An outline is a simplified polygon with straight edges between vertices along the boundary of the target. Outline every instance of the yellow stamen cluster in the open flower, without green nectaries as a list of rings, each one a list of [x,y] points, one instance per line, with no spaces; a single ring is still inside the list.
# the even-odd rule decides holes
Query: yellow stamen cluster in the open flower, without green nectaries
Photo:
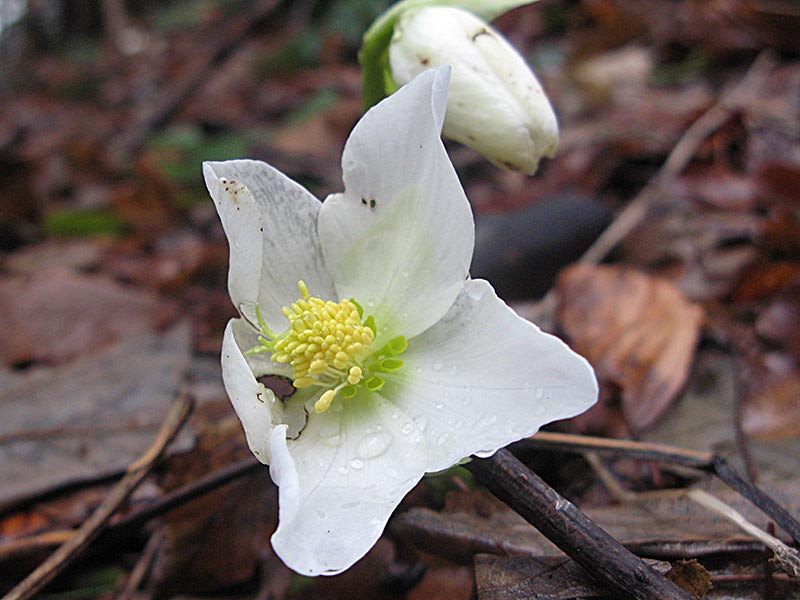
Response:
[[[375,333],[362,325],[358,307],[350,300],[312,298],[305,283],[299,281],[297,287],[301,297],[283,309],[289,328],[275,340],[272,360],[292,366],[296,388],[340,381],[358,384],[363,375],[360,363]],[[325,394],[329,392],[334,390]],[[325,394],[317,412],[333,401],[333,393],[330,398]]]

